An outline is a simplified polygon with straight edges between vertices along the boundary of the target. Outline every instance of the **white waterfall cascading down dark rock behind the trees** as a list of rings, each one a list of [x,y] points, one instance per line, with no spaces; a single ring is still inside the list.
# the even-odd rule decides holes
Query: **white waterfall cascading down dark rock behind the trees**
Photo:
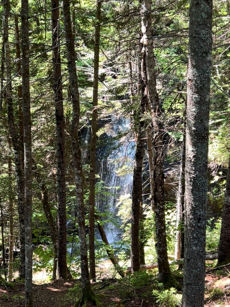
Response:
[[[114,138],[119,132],[129,130],[127,118],[113,118],[110,123],[112,130],[107,133],[108,138]],[[102,157],[100,164],[100,177],[107,187],[107,193],[97,196],[96,206],[100,212],[108,211],[113,219],[116,218],[116,204],[121,195],[131,195],[133,180],[133,165],[135,161],[135,142],[128,140],[127,135],[115,140],[109,155]],[[110,150],[108,148],[108,150]],[[119,229],[112,223],[104,225],[109,243],[119,239]]]

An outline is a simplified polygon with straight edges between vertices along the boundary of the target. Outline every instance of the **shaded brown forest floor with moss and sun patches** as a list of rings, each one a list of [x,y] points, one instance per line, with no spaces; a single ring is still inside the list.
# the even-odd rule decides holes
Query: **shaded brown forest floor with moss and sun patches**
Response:
[[[102,278],[92,283],[101,307],[155,307],[152,290],[156,279],[156,270],[141,271],[134,277],[123,279]],[[221,270],[207,268],[205,278],[205,307],[230,307],[230,267]],[[153,279],[148,279],[148,275]],[[102,276],[103,277],[103,276]],[[148,279],[148,281],[146,280]],[[145,282],[146,281],[146,282]],[[152,281],[152,283],[151,283]],[[155,284],[156,285],[156,284]],[[33,284],[34,307],[71,307],[80,297],[79,281],[59,279],[54,282]],[[21,307],[25,302],[24,285],[14,282],[12,287],[0,285],[0,306]],[[167,301],[161,306],[167,305]],[[90,306],[90,304],[88,304]]]

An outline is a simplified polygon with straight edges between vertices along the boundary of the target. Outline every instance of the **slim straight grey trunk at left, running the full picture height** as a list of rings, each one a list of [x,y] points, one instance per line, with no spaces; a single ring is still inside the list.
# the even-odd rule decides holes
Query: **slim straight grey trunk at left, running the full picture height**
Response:
[[[33,306],[32,294],[32,142],[29,88],[28,0],[21,1],[22,109],[25,162],[25,307]],[[21,163],[21,161],[20,161]]]

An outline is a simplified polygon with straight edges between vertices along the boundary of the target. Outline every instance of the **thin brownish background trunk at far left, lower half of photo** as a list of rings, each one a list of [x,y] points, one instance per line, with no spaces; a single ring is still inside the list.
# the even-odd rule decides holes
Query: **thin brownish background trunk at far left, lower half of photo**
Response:
[[[9,138],[9,149],[11,148],[11,141]],[[8,264],[8,280],[13,279],[13,198],[12,198],[12,160],[8,157],[8,197],[9,197],[9,264]]]

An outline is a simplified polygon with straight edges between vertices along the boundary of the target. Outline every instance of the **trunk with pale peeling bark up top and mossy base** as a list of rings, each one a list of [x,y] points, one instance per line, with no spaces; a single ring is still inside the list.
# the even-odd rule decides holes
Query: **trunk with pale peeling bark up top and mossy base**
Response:
[[[153,40],[152,40],[152,21],[151,21],[151,0],[143,0],[141,9],[141,32],[142,32],[142,60],[141,77],[142,88],[145,99],[148,100],[152,118],[152,147],[154,150],[154,190],[151,197],[155,206],[156,223],[156,251],[158,259],[159,279],[166,286],[171,282],[171,271],[168,263],[165,213],[164,213],[164,177],[163,177],[163,129],[160,122],[159,97],[156,90]]]

